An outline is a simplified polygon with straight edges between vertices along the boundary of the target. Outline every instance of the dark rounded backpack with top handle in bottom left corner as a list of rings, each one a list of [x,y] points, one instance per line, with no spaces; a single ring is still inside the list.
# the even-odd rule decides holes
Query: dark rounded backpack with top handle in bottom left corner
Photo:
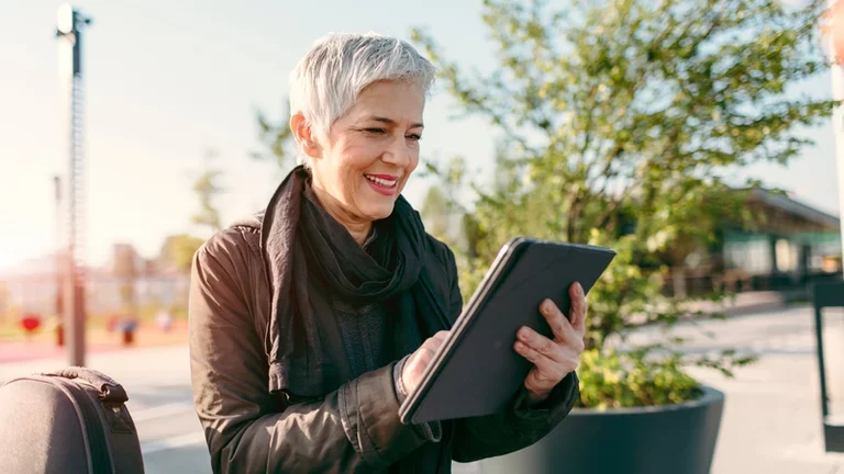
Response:
[[[0,386],[0,473],[143,474],[123,387],[91,369]]]

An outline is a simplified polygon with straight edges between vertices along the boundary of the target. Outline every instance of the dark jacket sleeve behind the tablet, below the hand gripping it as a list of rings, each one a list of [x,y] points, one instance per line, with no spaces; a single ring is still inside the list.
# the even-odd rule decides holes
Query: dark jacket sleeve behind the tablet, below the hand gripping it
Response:
[[[451,276],[448,307],[454,321],[460,314],[463,297],[451,250],[447,250],[446,261]],[[536,407],[530,406],[528,390],[522,385],[504,411],[455,420],[452,458],[457,462],[473,462],[526,448],[551,432],[568,415],[579,395],[574,372],[566,375],[548,398]]]

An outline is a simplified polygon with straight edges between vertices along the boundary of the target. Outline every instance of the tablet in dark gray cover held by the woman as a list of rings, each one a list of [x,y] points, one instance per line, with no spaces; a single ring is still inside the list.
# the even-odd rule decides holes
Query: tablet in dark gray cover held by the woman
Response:
[[[568,315],[569,286],[579,282],[588,293],[614,257],[613,250],[596,246],[529,238],[507,242],[399,408],[401,421],[503,410],[533,366],[513,349],[515,332],[528,326],[553,337],[540,303],[551,298]]]

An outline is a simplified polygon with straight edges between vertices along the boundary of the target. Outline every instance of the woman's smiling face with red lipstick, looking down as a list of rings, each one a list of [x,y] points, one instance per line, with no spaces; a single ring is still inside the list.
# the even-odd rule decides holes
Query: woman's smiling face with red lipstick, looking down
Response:
[[[332,201],[323,205],[333,207],[335,217],[371,222],[392,213],[419,163],[424,106],[422,87],[378,81],[366,87],[348,113],[334,122],[329,143],[311,167],[314,187]]]

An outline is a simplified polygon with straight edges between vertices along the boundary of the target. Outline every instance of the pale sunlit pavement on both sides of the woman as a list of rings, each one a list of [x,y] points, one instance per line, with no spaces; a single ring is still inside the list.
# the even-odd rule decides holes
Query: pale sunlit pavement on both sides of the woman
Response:
[[[828,316],[828,369],[834,395],[833,413],[844,413],[844,317]],[[711,331],[714,339],[702,335]],[[808,307],[797,307],[707,321],[679,328],[695,337],[687,351],[703,353],[737,348],[760,360],[741,369],[733,380],[707,370],[692,372],[726,394],[724,418],[712,472],[833,474],[844,473],[844,454],[824,454],[814,336]],[[653,340],[646,329],[634,340]],[[0,383],[21,374],[64,365],[63,360],[0,364]],[[208,473],[210,463],[191,406],[188,352],[185,347],[96,353],[89,365],[121,382],[137,425],[146,470],[156,473]],[[457,473],[479,472],[455,465]]]

